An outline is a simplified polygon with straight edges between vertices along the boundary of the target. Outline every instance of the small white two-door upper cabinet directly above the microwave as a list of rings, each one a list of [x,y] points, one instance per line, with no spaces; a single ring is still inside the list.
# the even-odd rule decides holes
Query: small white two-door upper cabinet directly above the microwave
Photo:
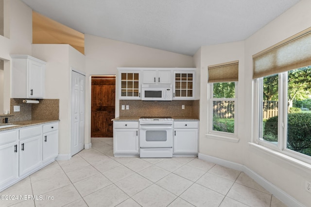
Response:
[[[172,84],[172,70],[170,69],[165,69],[165,70],[143,69],[142,84]]]

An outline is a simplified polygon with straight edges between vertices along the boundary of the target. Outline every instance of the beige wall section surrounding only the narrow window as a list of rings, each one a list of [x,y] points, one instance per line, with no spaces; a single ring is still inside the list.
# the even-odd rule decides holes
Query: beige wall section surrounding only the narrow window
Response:
[[[198,54],[196,54],[198,55]],[[242,163],[242,144],[219,141],[207,138],[207,67],[208,65],[222,64],[231,61],[239,61],[238,103],[235,118],[237,119],[237,134],[243,139],[243,71],[244,71],[244,42],[233,42],[221,45],[201,47],[201,93],[200,93],[200,153],[212,155],[217,158]],[[224,150],[225,149],[225,150]],[[224,152],[225,151],[225,152]],[[234,156],[232,156],[234,155]]]

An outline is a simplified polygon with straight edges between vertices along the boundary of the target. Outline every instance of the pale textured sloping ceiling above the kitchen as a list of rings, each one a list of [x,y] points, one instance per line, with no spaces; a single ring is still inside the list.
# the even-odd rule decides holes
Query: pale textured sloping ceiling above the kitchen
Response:
[[[74,30],[193,55],[241,41],[300,0],[22,0]]]

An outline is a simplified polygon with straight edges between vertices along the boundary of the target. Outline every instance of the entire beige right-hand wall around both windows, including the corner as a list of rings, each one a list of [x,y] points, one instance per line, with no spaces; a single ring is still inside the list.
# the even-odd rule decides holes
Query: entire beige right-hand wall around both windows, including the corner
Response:
[[[201,64],[200,153],[246,166],[305,206],[311,203],[311,195],[304,189],[305,181],[311,179],[310,167],[272,156],[257,147],[251,147],[249,143],[252,140],[252,55],[311,27],[311,16],[308,15],[310,8],[311,1],[302,0],[245,41],[205,46],[194,56],[195,60],[201,56],[200,62],[195,61],[197,67]],[[207,66],[233,60],[240,61],[237,117],[240,141],[209,140],[205,135]]]

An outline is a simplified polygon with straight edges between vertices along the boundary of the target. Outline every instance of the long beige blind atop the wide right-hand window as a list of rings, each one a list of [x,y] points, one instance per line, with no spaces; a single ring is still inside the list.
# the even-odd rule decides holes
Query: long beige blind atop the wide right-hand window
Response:
[[[311,65],[311,28],[253,55],[253,79]]]

